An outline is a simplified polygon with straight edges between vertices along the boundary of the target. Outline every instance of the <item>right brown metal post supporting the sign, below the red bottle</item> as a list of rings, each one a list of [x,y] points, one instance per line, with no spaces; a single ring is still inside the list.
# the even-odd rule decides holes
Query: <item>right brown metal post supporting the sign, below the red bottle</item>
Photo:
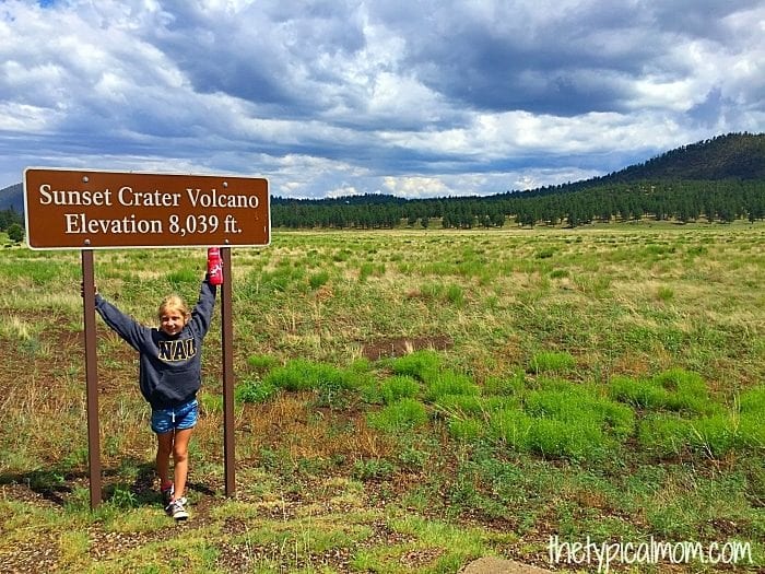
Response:
[[[221,296],[221,343],[223,353],[223,457],[226,496],[236,491],[234,456],[234,321],[232,317],[231,247],[221,248],[223,293]]]

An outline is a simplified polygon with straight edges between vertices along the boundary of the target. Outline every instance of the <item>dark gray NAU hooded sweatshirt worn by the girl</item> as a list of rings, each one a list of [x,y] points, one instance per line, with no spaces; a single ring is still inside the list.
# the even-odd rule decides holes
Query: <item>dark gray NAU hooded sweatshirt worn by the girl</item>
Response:
[[[139,386],[153,409],[178,407],[197,396],[202,384],[202,339],[210,328],[215,292],[207,279],[202,281],[189,323],[173,337],[141,325],[96,294],[98,315],[139,353]]]

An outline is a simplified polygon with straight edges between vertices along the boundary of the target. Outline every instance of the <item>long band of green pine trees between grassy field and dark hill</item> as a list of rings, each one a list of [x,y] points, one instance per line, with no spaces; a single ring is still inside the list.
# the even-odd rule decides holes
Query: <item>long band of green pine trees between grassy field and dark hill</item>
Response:
[[[287,229],[446,229],[567,225],[644,218],[682,223],[765,219],[765,181],[644,180],[577,191],[513,191],[487,197],[407,200],[361,196],[331,200],[275,198],[271,222]]]

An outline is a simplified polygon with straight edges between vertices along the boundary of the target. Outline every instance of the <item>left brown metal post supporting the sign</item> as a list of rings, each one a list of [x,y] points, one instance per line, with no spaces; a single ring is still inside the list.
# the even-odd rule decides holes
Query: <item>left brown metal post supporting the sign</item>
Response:
[[[101,504],[101,440],[98,433],[98,365],[96,363],[95,280],[93,249],[82,249],[82,288],[85,320],[85,385],[87,388],[87,460],[91,508]]]

